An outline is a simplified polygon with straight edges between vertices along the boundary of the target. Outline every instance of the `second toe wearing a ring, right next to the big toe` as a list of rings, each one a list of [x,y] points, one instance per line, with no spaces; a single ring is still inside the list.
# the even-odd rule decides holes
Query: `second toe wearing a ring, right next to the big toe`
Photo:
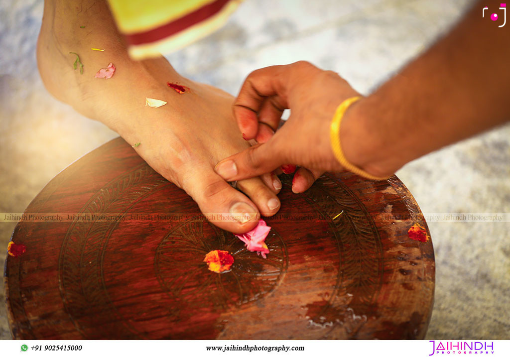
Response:
[[[271,190],[260,177],[239,180],[237,188],[243,191],[251,198],[251,201],[257,205],[260,213],[264,216],[272,216],[280,208],[280,201],[276,194]]]

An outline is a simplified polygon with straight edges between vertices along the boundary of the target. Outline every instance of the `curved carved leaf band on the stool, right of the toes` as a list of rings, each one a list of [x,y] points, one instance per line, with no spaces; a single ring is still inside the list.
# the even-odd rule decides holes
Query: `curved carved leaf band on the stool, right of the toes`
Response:
[[[382,286],[384,260],[377,228],[363,202],[340,180],[323,175],[304,194],[320,216],[330,219],[328,225],[340,254],[334,291],[318,309],[312,310],[310,325],[328,327],[323,338],[338,326],[343,326],[348,334],[355,334],[367,321],[365,309],[374,303]],[[363,311],[356,315],[360,308]],[[338,317],[324,321],[327,315]]]

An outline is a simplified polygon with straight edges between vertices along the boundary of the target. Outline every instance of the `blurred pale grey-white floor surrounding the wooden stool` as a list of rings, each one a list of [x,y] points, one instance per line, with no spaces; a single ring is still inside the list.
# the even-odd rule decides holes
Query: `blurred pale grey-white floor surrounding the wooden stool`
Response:
[[[252,70],[298,60],[363,94],[446,31],[470,0],[246,0],[213,35],[167,56],[183,75],[237,94]],[[35,46],[43,0],[0,3],[0,213],[21,213],[59,171],[117,136],[51,97]],[[481,9],[480,9],[481,13]],[[510,213],[510,125],[405,166],[427,213]],[[0,222],[0,263],[15,223]],[[429,222],[436,301],[427,339],[510,339],[510,223]],[[0,338],[11,334],[0,282]]]

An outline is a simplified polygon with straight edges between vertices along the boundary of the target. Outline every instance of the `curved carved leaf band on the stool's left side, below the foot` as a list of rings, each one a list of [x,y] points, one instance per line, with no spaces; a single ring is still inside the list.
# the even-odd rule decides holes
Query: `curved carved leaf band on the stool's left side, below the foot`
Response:
[[[113,182],[93,195],[80,216],[84,214],[118,214],[119,217],[133,206],[137,200],[151,191],[169,184],[148,165],[142,164],[119,176]],[[59,285],[67,313],[74,326],[86,338],[100,338],[110,335],[111,330],[103,331],[97,326],[93,335],[83,326],[90,326],[94,315],[103,315],[105,320],[115,320],[115,308],[110,303],[104,284],[102,254],[108,238],[120,221],[116,220],[74,220],[62,244],[59,257]],[[122,337],[134,338],[137,331],[124,324],[124,330],[116,325],[116,333]]]

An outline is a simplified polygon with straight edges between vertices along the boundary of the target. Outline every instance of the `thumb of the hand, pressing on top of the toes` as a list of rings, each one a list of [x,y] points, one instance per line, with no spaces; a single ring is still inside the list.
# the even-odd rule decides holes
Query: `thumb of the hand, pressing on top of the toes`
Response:
[[[214,171],[226,181],[248,179],[271,172],[284,163],[281,152],[274,150],[276,135],[267,143],[251,146],[221,160]]]

